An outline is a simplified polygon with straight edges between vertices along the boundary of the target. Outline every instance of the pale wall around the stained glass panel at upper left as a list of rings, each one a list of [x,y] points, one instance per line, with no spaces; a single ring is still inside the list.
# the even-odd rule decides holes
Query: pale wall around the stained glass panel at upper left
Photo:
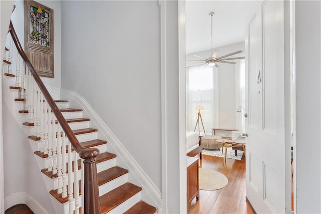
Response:
[[[46,86],[61,87],[61,1],[37,1],[54,10],[54,70],[55,78],[41,77]],[[25,48],[24,33],[24,1],[15,1],[16,9],[12,15],[12,22],[20,43]],[[9,41],[7,41],[9,45]],[[15,49],[15,48],[14,48]],[[14,52],[13,58],[16,58],[17,52]],[[15,59],[13,59],[15,61]],[[16,72],[15,63],[13,63],[13,73]]]

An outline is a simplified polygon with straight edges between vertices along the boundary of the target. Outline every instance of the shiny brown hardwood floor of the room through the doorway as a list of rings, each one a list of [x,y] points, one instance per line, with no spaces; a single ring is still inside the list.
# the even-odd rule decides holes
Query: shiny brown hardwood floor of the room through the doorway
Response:
[[[223,173],[229,182],[219,190],[200,190],[200,200],[192,201],[190,213],[255,213],[245,199],[244,156],[242,160],[227,159],[225,163],[224,158],[203,155],[199,165]]]

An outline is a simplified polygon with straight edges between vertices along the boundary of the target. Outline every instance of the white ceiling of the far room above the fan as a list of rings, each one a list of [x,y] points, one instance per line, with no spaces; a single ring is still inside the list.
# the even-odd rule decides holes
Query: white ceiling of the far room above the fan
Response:
[[[244,41],[245,19],[253,1],[186,0],[186,54],[211,49],[211,17],[213,16],[213,48]]]

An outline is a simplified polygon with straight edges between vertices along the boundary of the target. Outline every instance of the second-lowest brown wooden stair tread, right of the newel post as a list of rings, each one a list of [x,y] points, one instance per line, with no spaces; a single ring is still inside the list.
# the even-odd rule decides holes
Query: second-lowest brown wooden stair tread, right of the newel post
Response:
[[[132,183],[125,183],[110,192],[100,196],[101,213],[106,213],[122,202],[126,201],[131,196],[141,191],[141,187]]]

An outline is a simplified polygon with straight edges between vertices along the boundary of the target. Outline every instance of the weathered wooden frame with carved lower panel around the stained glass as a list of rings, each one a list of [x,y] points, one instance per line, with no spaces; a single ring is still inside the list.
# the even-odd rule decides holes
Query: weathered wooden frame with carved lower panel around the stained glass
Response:
[[[30,40],[30,6],[49,14],[49,48],[33,44]],[[25,53],[39,76],[55,77],[54,72],[54,10],[35,1],[25,1]]]

